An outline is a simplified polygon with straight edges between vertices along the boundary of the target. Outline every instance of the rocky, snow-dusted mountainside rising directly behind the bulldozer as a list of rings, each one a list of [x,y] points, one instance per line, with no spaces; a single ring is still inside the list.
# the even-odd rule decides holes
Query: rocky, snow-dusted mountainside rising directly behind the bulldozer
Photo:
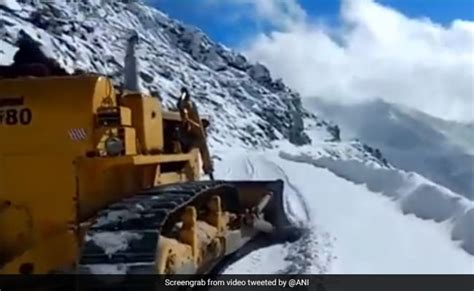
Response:
[[[262,65],[186,26],[128,0],[8,0],[0,2],[0,64],[12,62],[24,30],[70,72],[81,69],[121,81],[127,38],[140,36],[140,79],[173,107],[190,89],[211,118],[212,144],[268,146],[278,138],[308,142],[297,93],[272,80]]]

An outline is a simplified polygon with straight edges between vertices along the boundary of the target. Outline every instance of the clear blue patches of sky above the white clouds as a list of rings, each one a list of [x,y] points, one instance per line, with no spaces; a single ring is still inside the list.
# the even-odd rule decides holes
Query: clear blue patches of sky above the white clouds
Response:
[[[271,30],[271,26],[259,24],[255,18],[247,14],[248,11],[245,11],[248,6],[245,3],[259,2],[259,0],[148,0],[148,2],[173,18],[198,26],[212,39],[230,47],[239,45],[243,38],[251,37],[255,33]],[[474,0],[381,0],[377,2],[393,7],[409,17],[429,17],[443,25],[448,25],[453,19],[474,20]],[[340,0],[298,0],[297,3],[311,17],[331,21],[336,20],[341,6]],[[240,17],[236,18],[236,15]],[[229,16],[232,16],[231,20],[226,20],[225,18]]]

